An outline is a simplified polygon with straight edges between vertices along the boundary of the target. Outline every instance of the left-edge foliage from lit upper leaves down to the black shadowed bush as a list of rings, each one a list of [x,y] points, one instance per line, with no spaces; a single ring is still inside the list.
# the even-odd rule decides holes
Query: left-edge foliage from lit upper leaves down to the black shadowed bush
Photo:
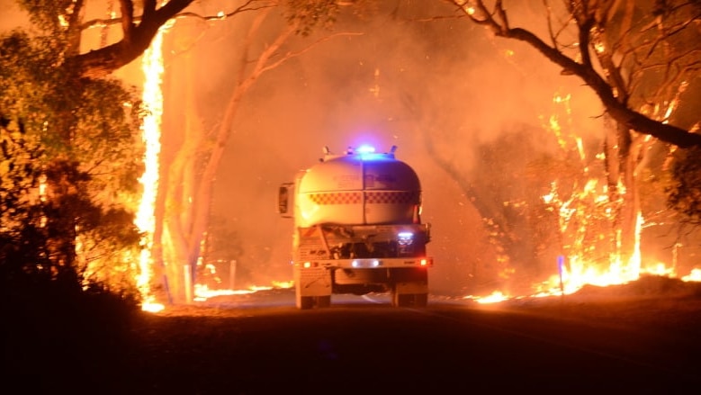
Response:
[[[103,385],[117,370],[94,361],[120,364],[139,307],[124,256],[139,248],[140,106],[67,62],[76,36],[63,17],[82,2],[19,3],[41,33],[0,35],[4,365],[26,391]]]

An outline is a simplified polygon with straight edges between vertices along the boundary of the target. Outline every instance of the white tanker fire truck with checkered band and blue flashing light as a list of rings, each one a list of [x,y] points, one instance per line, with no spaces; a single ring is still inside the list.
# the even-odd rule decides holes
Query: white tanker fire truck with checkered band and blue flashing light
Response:
[[[278,213],[294,220],[299,309],[328,307],[332,294],[370,292],[391,292],[392,306],[426,306],[430,224],[421,222],[418,175],[395,151],[324,148],[319,163],[280,186]]]

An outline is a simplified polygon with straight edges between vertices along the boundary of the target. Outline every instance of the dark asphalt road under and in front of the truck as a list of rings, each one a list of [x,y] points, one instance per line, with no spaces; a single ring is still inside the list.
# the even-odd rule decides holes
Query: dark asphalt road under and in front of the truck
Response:
[[[324,310],[296,310],[286,293],[204,305],[145,316],[129,367],[109,390],[657,394],[697,393],[701,383],[701,328],[683,320],[577,319],[436,299],[391,308],[382,296],[337,298]]]

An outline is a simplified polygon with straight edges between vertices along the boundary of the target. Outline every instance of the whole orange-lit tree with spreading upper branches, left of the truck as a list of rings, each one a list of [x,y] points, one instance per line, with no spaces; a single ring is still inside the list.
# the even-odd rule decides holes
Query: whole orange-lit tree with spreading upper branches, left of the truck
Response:
[[[336,33],[322,35],[319,40],[309,43],[295,42],[295,38],[307,36],[318,24],[326,25],[333,21],[338,11],[337,4],[327,2],[260,2],[253,6],[240,7],[236,13],[252,11],[251,20],[247,21],[247,32],[238,43],[235,76],[225,92],[228,100],[218,109],[215,121],[209,121],[202,114],[202,104],[195,102],[194,86],[191,80],[180,83],[183,78],[173,75],[174,83],[169,86],[171,92],[179,92],[184,97],[179,103],[184,104],[184,111],[173,115],[169,124],[173,132],[182,137],[176,144],[175,155],[167,164],[165,184],[159,199],[157,223],[159,230],[155,238],[155,259],[161,262],[168,281],[172,282],[171,292],[179,301],[186,297],[188,284],[183,283],[183,270],[207,265],[214,260],[214,255],[207,256],[213,246],[211,231],[211,200],[215,179],[225,148],[229,145],[232,124],[238,114],[241,101],[256,81],[266,72],[282,66],[286,61],[301,56],[322,42],[338,35],[353,33]],[[309,5],[309,7],[308,7]],[[275,19],[283,14],[283,20]],[[201,18],[215,20],[215,18]],[[217,22],[217,21],[214,21]],[[282,23],[281,23],[282,22]],[[265,23],[277,26],[272,39],[261,48],[257,39],[264,34]],[[194,33],[196,27],[185,27]],[[194,35],[194,34],[193,34]],[[227,37],[227,36],[225,36]],[[229,44],[234,46],[234,44]],[[190,50],[189,48],[185,50]],[[253,59],[253,60],[251,60]],[[185,54],[184,73],[192,74],[194,57]],[[209,126],[207,126],[209,125]],[[240,250],[238,250],[240,251]],[[240,252],[238,252],[240,254]],[[232,256],[229,256],[232,259]],[[165,265],[166,262],[178,262],[186,265]]]

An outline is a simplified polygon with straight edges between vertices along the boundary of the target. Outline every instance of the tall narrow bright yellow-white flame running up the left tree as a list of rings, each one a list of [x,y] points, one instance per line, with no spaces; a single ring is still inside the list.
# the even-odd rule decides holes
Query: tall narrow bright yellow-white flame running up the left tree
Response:
[[[158,161],[161,150],[161,117],[163,115],[161,76],[163,75],[164,67],[161,47],[163,45],[163,34],[170,26],[171,23],[164,24],[141,59],[141,70],[144,73],[144,87],[141,98],[147,107],[148,113],[141,125],[141,139],[143,139],[146,146],[143,158],[144,173],[139,178],[139,183],[143,185],[143,194],[134,224],[144,235],[141,238],[139,275],[137,277],[137,287],[143,300],[141,309],[152,312],[163,310],[164,308],[162,304],[155,301],[155,296],[151,293],[150,282],[153,276],[151,270],[153,263],[151,247],[153,246],[153,235],[156,229],[154,211],[158,191]]]

